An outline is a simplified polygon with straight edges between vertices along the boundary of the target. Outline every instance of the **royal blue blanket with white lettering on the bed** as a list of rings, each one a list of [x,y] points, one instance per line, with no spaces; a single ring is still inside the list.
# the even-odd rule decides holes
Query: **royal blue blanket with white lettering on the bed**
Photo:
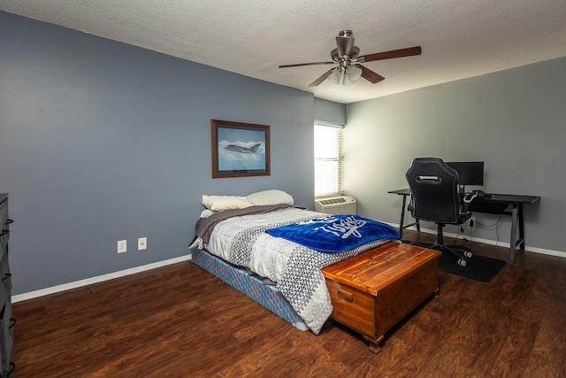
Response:
[[[401,238],[395,228],[385,223],[345,214],[268,228],[265,232],[325,253],[348,251],[379,239]]]

